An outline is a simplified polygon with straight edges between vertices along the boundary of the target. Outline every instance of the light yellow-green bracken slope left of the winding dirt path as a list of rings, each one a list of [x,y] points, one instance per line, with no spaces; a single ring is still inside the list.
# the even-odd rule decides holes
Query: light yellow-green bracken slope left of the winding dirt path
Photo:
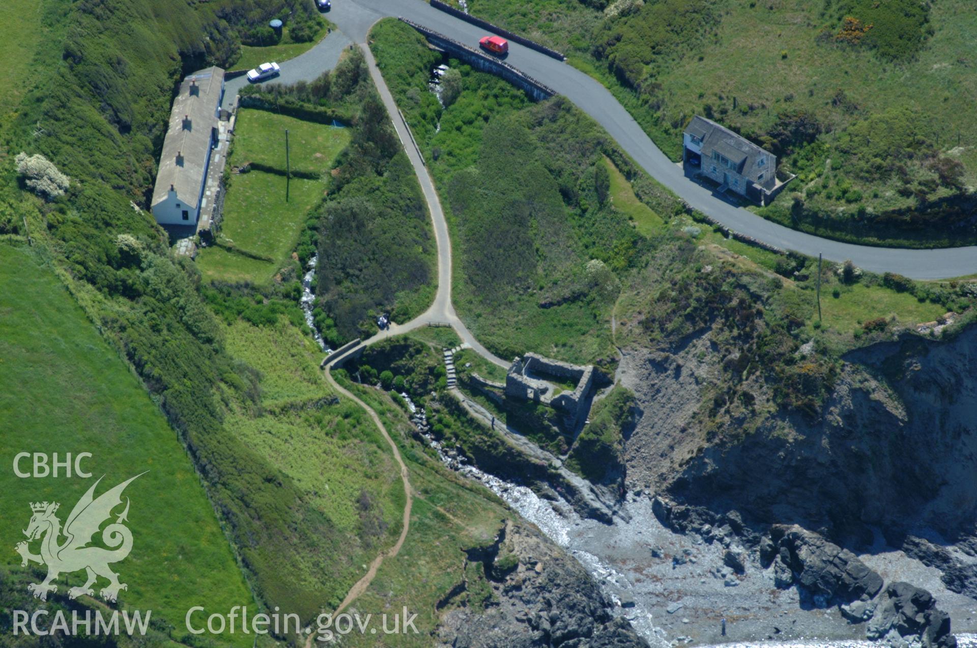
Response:
[[[295,326],[282,318],[272,326],[238,320],[227,340],[235,359],[260,372],[261,409],[234,408],[225,427],[287,475],[307,514],[324,520],[315,550],[289,569],[318,597],[306,607],[335,605],[361,577],[361,564],[400,534],[404,492],[396,466],[365,413],[335,400],[319,373],[318,347]]]

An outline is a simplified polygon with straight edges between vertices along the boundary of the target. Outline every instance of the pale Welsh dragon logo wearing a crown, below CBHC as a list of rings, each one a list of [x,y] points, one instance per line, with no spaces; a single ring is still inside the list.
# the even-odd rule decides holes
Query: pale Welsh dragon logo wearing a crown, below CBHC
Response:
[[[141,473],[136,477],[145,474]],[[68,598],[77,598],[82,594],[94,596],[92,584],[100,576],[108,579],[108,584],[99,592],[106,601],[114,602],[120,589],[128,589],[126,583],[119,583],[119,575],[112,572],[108,565],[119,562],[132,550],[132,532],[122,524],[128,521],[126,516],[129,514],[129,497],[126,497],[125,509],[118,514],[115,522],[106,526],[102,532],[102,541],[110,548],[88,546],[88,544],[99,532],[102,523],[111,517],[112,509],[122,503],[122,491],[136,477],[127,479],[95,498],[93,494],[95,487],[102,481],[100,477],[71,509],[70,515],[64,522],[64,530],[61,520],[55,515],[61,504],[57,501],[31,502],[30,510],[34,514],[30,516],[30,524],[23,532],[27,540],[18,542],[14,550],[21,554],[23,567],[31,561],[48,566],[48,576],[43,583],[27,585],[27,589],[34,594],[35,598],[48,600],[48,592],[58,591],[58,585],[52,584],[53,581],[62,574],[79,570],[85,570],[87,580],[80,587],[68,589]],[[61,541],[62,536],[64,541]],[[40,554],[31,553],[27,543],[39,538],[41,538]]]

